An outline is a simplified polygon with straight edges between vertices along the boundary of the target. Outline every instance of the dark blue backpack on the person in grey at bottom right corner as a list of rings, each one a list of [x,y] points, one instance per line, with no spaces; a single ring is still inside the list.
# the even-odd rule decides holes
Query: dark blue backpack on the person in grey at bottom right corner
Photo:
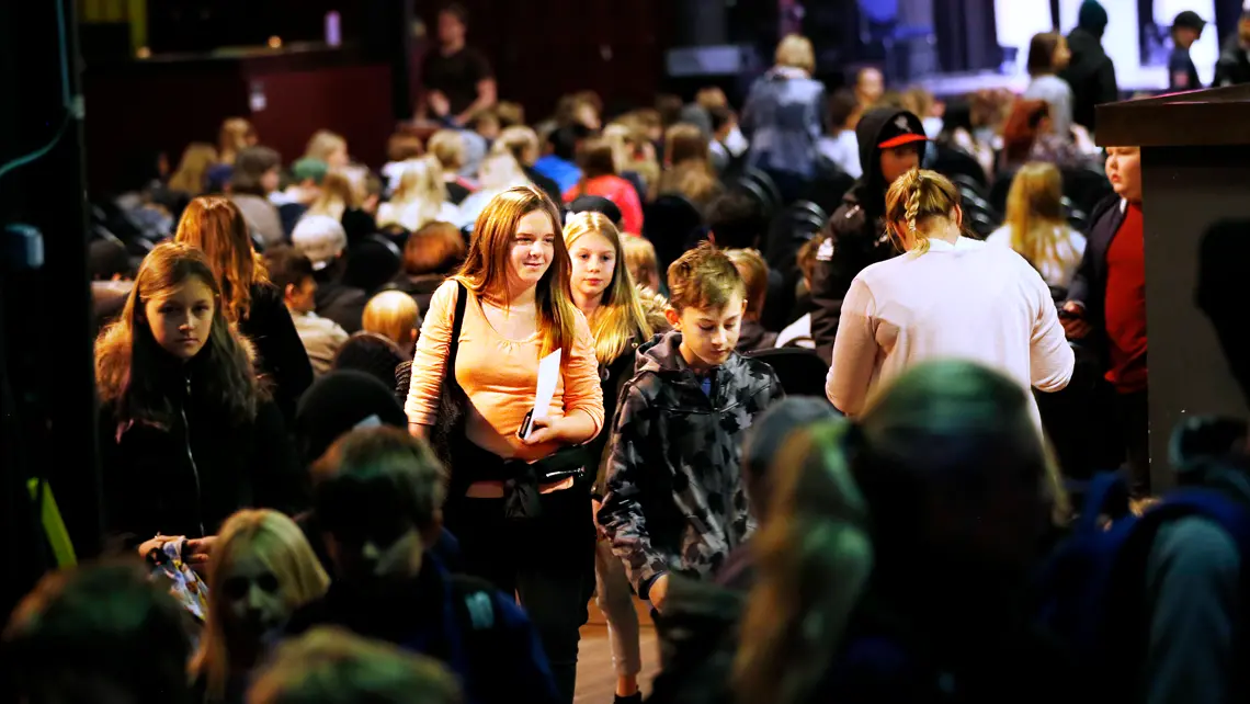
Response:
[[[1104,516],[1111,519],[1109,526]],[[1142,680],[1149,636],[1148,560],[1159,529],[1186,516],[1222,528],[1241,564],[1250,565],[1250,506],[1242,501],[1219,489],[1184,486],[1134,515],[1124,476],[1106,473],[1090,481],[1071,535],[1044,569],[1041,625],[1071,649],[1094,700],[1141,700],[1134,686]]]

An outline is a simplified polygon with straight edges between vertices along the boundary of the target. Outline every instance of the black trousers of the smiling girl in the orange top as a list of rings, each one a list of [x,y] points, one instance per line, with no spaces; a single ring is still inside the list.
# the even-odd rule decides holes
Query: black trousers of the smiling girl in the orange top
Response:
[[[460,540],[464,571],[520,596],[538,630],[556,691],[572,701],[579,629],[586,623],[588,579],[594,579],[595,525],[581,485],[539,498],[539,518],[504,518],[502,499],[452,496],[448,530]]]

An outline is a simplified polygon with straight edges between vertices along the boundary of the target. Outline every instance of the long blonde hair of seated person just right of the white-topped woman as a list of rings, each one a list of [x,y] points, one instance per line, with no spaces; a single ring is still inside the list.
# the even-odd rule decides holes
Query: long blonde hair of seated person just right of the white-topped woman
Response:
[[[1065,224],[1062,198],[1064,180],[1054,164],[1025,164],[1011,180],[1006,218],[1011,249],[1039,271],[1048,264],[1061,269],[1071,264],[1064,260],[1055,241],[1055,228]]]

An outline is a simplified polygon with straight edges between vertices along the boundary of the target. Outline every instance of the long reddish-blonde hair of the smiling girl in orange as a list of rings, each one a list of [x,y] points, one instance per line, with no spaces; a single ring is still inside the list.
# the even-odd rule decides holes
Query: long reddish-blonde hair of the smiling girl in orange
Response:
[[[476,296],[502,299],[505,305],[509,304],[508,256],[521,218],[530,213],[546,215],[551,220],[551,231],[556,235],[551,265],[542,274],[535,291],[539,330],[542,335],[541,355],[546,356],[559,349],[572,349],[579,315],[569,288],[569,250],[560,236],[560,210],[546,194],[532,185],[525,185],[510,188],[490,199],[474,223],[469,255],[455,280]],[[564,365],[569,355],[565,354],[561,359]]]

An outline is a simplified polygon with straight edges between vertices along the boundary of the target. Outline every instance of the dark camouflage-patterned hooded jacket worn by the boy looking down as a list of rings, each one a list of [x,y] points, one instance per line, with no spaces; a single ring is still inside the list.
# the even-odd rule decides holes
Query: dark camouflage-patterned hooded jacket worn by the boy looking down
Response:
[[[681,333],[638,350],[621,391],[599,523],[646,598],[669,570],[714,573],[750,531],[739,470],[742,436],[784,393],[768,364],[732,354],[710,393],[678,350]]]

